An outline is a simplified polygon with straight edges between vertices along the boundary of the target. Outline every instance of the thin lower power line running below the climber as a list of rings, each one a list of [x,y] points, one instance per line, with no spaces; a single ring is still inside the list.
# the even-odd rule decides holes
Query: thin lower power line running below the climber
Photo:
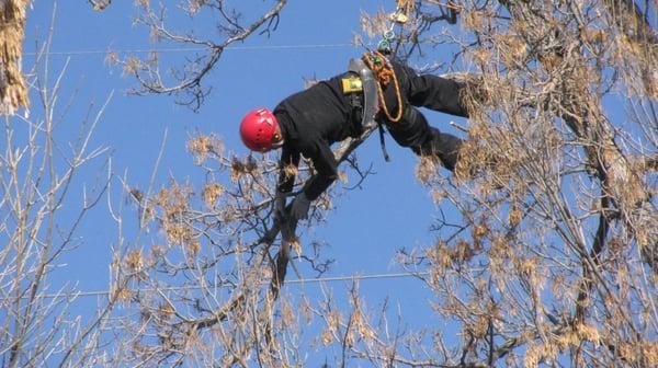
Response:
[[[347,275],[347,276],[333,276],[333,277],[315,277],[315,278],[298,278],[286,280],[284,285],[291,284],[320,284],[320,283],[337,283],[337,281],[361,281],[361,280],[382,280],[388,278],[407,278],[407,277],[418,277],[418,276],[428,276],[429,272],[419,272],[419,273],[390,273],[390,274],[372,274],[372,275]],[[205,288],[225,288],[226,286],[205,286]],[[172,287],[163,287],[163,288],[144,288],[137,289],[135,291],[181,291],[181,290],[200,290],[204,287],[202,286],[172,286]],[[35,299],[61,299],[61,298],[86,298],[86,297],[104,297],[110,295],[110,290],[95,290],[95,291],[71,291],[68,294],[48,294],[44,296],[37,296]],[[27,297],[23,297],[21,299],[27,299]],[[3,301],[11,300],[10,298],[0,299]]]

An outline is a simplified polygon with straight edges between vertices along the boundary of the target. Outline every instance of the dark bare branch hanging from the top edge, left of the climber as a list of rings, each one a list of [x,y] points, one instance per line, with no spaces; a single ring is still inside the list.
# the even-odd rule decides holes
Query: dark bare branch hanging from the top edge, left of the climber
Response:
[[[250,35],[270,34],[276,30],[279,14],[287,0],[268,1],[272,5],[254,2],[240,3],[226,0],[188,0],[180,9],[191,19],[214,19],[212,32],[202,30],[173,30],[167,19],[172,9],[152,5],[150,1],[138,1],[139,15],[136,22],[149,30],[151,41],[160,46],[191,47],[195,56],[184,60],[161,60],[157,51],[147,58],[123,57],[111,53],[109,59],[120,64],[126,73],[136,78],[135,94],[175,95],[177,101],[193,110],[201,107],[209,88],[206,76],[215,68],[224,50],[247,39]],[[270,8],[263,8],[270,7]],[[262,13],[253,8],[263,8]],[[180,16],[173,12],[171,16]]]

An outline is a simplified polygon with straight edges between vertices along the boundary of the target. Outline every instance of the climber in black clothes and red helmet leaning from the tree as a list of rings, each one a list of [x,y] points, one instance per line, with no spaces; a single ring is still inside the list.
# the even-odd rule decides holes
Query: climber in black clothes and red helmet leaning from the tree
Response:
[[[382,108],[374,119],[386,126],[398,145],[409,147],[418,156],[433,156],[447,170],[454,171],[462,139],[431,127],[415,106],[468,117],[461,103],[464,85],[433,74],[418,74],[399,60],[388,60],[382,54],[367,57],[368,69],[377,65],[388,68],[388,77],[393,76],[387,83],[383,83],[382,76],[376,76],[381,89],[375,102]],[[354,71],[338,74],[286,97],[273,112],[261,107],[242,119],[240,136],[249,149],[266,152],[282,148],[275,200],[277,211],[284,210],[285,197],[292,192],[295,180],[284,169],[297,166],[300,154],[313,161],[317,175],[288,206],[292,218],[307,218],[310,203],[337,179],[338,163],[330,146],[348,137],[359,137],[366,120],[362,116],[367,106],[364,106],[360,77]]]

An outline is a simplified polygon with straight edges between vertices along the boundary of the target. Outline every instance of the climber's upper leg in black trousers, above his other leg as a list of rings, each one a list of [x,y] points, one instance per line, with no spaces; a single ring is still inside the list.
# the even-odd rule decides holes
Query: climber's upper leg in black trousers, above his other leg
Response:
[[[407,97],[413,106],[423,106],[442,113],[468,117],[462,104],[463,83],[433,74],[416,73],[416,70],[399,64],[409,82]]]

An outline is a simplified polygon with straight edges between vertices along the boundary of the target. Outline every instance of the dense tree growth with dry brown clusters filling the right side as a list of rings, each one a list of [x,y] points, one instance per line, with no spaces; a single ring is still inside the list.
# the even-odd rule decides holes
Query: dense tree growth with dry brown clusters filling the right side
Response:
[[[426,27],[418,36],[461,47],[472,116],[455,177],[428,160],[418,169],[461,219],[445,217],[436,244],[404,258],[430,273],[420,278],[436,292],[435,310],[461,325],[461,343],[439,336],[433,349],[395,359],[656,365],[655,3],[423,7],[423,20],[457,10],[463,35],[433,38]]]

